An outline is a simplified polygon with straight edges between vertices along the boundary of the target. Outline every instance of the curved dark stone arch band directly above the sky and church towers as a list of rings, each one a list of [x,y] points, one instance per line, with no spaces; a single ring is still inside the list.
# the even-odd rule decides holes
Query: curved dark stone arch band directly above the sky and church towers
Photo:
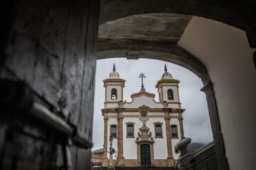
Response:
[[[118,42],[99,40],[97,60],[124,57],[128,60],[147,58],[178,64],[200,77],[203,84],[210,83],[206,66],[179,45],[150,42]]]

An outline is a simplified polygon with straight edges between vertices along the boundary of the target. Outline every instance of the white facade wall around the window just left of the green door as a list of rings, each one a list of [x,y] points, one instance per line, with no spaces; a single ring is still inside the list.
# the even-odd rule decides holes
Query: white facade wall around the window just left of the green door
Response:
[[[126,123],[134,123],[134,138],[127,138]],[[124,118],[123,120],[123,145],[124,159],[137,159],[137,143],[135,142],[138,136],[139,128],[142,127],[142,122],[138,118]]]

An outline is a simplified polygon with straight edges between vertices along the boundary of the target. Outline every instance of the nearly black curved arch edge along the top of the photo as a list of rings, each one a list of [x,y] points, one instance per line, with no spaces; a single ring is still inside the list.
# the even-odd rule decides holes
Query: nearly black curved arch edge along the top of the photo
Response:
[[[256,1],[101,0],[100,24],[143,13],[201,16],[247,30],[256,21]]]

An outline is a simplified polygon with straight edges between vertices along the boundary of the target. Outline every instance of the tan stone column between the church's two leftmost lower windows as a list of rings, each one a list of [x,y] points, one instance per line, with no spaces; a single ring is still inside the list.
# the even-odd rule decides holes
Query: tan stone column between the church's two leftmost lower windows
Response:
[[[124,166],[124,154],[123,154],[123,120],[124,116],[122,115],[122,109],[117,109],[117,166]]]

